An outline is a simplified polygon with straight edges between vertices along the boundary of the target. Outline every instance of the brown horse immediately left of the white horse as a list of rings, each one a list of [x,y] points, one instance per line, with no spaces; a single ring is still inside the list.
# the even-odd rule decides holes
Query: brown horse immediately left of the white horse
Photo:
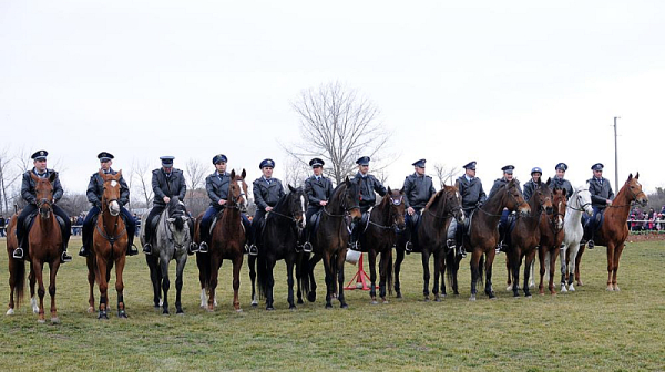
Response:
[[[553,268],[556,265],[556,257],[561,249],[561,244],[565,237],[564,224],[567,209],[567,195],[565,189],[555,188],[552,192],[553,213],[548,216],[541,216],[540,223],[540,246],[538,249],[538,258],[540,262],[540,283],[538,286],[539,293],[544,294],[543,278],[548,267]],[[545,262],[548,260],[548,262]],[[554,290],[554,271],[549,271],[550,281],[548,288],[550,294],[556,294]]]

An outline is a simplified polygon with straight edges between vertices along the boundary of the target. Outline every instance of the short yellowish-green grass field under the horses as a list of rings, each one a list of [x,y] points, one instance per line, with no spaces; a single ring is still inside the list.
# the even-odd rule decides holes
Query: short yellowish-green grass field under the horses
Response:
[[[71,251],[79,246],[80,240],[72,239]],[[7,306],[3,239],[0,248],[0,300]],[[423,302],[420,255],[410,255],[402,269],[403,299],[370,304],[367,292],[350,291],[348,310],[326,310],[320,280],[317,302],[296,311],[287,310],[286,271],[279,264],[277,310],[273,312],[263,304],[249,306],[244,268],[242,313],[231,306],[231,265],[225,262],[219,308],[208,313],[198,308],[198,272],[191,259],[183,290],[186,314],[165,317],[153,310],[141,255],[129,258],[125,269],[130,319],[99,321],[86,312],[86,268],[76,257],[58,276],[61,324],[38,324],[28,298],[14,316],[0,316],[0,371],[665,370],[664,241],[626,248],[620,268],[621,292],[605,291],[602,247],[587,250],[583,258],[585,285],[555,297],[513,299],[505,291],[503,262],[503,256],[494,262],[495,301],[484,296],[475,302],[468,300],[470,275],[464,260],[461,294]],[[347,278],[355,270],[347,265]],[[321,265],[316,273],[323,276]],[[114,289],[110,297],[114,309]]]

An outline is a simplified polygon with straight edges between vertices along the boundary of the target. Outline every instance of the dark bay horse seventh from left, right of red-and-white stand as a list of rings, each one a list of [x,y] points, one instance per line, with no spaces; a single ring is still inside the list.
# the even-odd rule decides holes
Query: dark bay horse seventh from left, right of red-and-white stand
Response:
[[[393,190],[388,187],[388,193],[381,203],[371,209],[367,228],[360,234],[360,247],[368,252],[369,280],[371,282],[369,297],[371,303],[377,303],[377,256],[379,262],[379,296],[386,301],[386,287],[392,294],[392,246],[397,232],[405,229],[405,190]]]

